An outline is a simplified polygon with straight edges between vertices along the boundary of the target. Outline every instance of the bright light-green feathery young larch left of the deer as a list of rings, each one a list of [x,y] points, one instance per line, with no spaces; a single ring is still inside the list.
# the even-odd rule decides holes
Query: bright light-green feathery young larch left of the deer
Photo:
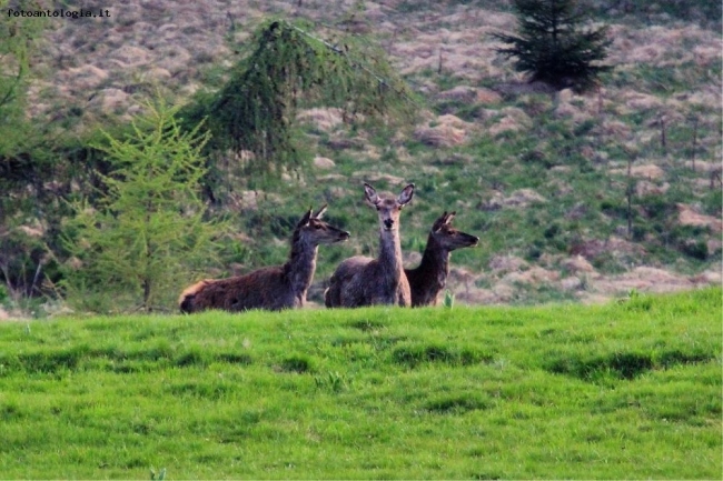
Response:
[[[181,132],[177,109],[160,100],[132,122],[132,136],[97,148],[109,174],[91,204],[75,204],[65,226],[63,287],[81,309],[169,308],[197,268],[207,269],[222,226],[205,221],[199,198],[208,133]],[[200,127],[200,126],[199,126]],[[115,299],[113,299],[115,298]],[[95,303],[95,305],[93,305]]]

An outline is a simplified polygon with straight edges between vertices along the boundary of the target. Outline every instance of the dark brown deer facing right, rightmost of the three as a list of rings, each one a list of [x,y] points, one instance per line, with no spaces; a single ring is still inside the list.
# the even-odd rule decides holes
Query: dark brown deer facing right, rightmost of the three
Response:
[[[427,247],[416,269],[405,269],[412,289],[412,307],[437,305],[437,295],[447,284],[449,254],[455,249],[475,247],[479,238],[452,227],[456,212],[443,213],[429,231]]]

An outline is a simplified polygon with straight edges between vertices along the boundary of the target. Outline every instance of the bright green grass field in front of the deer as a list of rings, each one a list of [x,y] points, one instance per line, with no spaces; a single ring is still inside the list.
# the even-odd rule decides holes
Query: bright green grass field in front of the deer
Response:
[[[0,325],[8,479],[720,479],[721,289]]]

